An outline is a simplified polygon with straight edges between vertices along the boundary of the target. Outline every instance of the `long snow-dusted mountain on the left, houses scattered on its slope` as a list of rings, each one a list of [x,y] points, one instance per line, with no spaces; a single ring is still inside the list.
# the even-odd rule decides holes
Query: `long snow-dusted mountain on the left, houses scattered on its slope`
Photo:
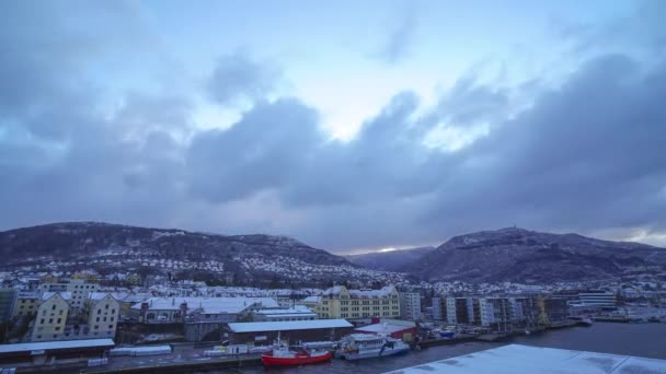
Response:
[[[226,236],[96,222],[0,232],[0,256],[4,259],[0,267],[5,269],[93,268],[103,273],[140,269],[302,280],[345,279],[361,270],[343,257],[285,236]]]

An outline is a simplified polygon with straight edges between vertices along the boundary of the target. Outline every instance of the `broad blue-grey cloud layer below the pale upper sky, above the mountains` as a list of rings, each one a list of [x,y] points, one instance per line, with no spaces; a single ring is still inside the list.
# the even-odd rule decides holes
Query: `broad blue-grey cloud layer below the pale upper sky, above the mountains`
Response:
[[[222,54],[194,85],[210,105],[252,103],[225,129],[194,127],[193,95],[177,90],[110,101],[115,91],[100,82],[113,77],[87,67],[107,63],[96,37],[125,36],[82,38],[21,4],[0,12],[0,227],[100,220],[288,234],[331,250],[512,224],[643,239],[666,231],[658,48],[650,59],[600,48],[536,94],[474,77],[430,106],[400,92],[343,142],[307,97],[276,94],[282,72],[240,52]],[[648,25],[635,37],[663,46]],[[485,131],[460,147],[427,141],[473,128]]]

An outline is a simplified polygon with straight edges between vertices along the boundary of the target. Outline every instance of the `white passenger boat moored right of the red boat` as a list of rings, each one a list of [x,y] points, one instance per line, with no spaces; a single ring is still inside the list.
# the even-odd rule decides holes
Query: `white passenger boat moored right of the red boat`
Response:
[[[335,357],[345,360],[361,360],[393,355],[409,350],[410,346],[400,339],[370,334],[352,334],[340,341]]]

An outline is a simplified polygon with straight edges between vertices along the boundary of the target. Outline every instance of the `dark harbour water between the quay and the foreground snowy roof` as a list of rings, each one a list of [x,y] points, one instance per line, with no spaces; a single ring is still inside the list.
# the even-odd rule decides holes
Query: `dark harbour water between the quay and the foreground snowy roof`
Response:
[[[501,347],[507,343],[574,349],[615,354],[629,354],[666,360],[666,324],[604,324],[574,327],[521,336],[504,342],[467,342],[412,351],[404,355],[356,362],[333,360],[330,363],[290,369],[249,367],[218,373],[309,374],[309,373],[383,373],[426,362]]]

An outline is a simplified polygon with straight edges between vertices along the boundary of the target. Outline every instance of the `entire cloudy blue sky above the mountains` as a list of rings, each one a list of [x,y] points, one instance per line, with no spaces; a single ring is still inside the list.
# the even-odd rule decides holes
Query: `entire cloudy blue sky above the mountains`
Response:
[[[666,247],[666,2],[0,2],[0,230]]]

